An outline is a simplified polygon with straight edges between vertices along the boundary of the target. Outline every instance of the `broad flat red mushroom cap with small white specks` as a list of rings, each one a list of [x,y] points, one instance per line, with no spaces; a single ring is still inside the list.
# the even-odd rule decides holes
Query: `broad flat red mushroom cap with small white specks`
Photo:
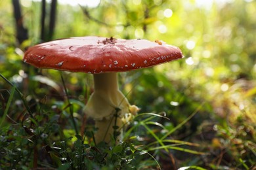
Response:
[[[161,41],[74,37],[32,46],[24,62],[39,68],[96,74],[131,71],[179,58],[179,48]]]

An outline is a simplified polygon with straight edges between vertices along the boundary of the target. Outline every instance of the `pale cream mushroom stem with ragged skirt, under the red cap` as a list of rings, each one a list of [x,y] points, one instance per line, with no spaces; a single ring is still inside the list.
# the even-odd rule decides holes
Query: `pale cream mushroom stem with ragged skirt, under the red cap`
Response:
[[[122,140],[123,125],[126,122],[123,122],[123,118],[125,114],[131,112],[129,110],[131,105],[118,89],[117,73],[102,73],[93,76],[95,91],[85,106],[85,113],[94,118],[95,126],[98,128],[95,134],[96,143],[100,141],[109,143],[112,137],[116,139],[117,131],[120,132],[117,139]],[[118,129],[116,129],[117,126]]]

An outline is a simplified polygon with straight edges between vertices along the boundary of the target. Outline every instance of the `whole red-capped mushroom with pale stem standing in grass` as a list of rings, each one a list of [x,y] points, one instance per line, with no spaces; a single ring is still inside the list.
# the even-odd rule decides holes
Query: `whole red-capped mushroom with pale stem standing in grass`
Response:
[[[179,58],[181,50],[162,41],[74,37],[37,44],[26,51],[24,62],[44,69],[93,74],[94,92],[85,114],[95,120],[96,143],[109,143],[139,110],[119,91],[117,73]],[[122,133],[118,139],[122,140]]]

